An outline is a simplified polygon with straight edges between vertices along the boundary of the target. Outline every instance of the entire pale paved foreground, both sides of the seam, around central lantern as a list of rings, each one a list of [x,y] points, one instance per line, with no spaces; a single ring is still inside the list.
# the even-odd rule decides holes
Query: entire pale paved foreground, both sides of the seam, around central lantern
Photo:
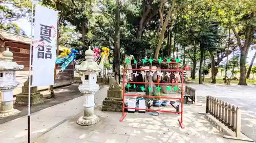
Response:
[[[77,119],[83,115],[84,97],[63,102],[37,111],[31,115],[31,137],[34,143],[246,143],[223,138],[215,125],[207,121],[205,106],[184,104],[183,124],[178,123],[179,115],[160,113],[150,116],[148,113],[128,113],[123,122],[119,122],[121,112],[101,111],[101,104],[108,88],[95,94],[95,114],[100,122],[93,126],[79,126]],[[74,91],[69,94],[78,94]],[[202,99],[205,96],[202,96]],[[204,101],[204,100],[202,100]],[[200,101],[202,103],[202,101]],[[168,108],[168,107],[166,107]],[[172,107],[170,107],[172,108]],[[173,109],[173,108],[172,108]],[[27,142],[27,117],[21,117],[0,125],[0,142]]]

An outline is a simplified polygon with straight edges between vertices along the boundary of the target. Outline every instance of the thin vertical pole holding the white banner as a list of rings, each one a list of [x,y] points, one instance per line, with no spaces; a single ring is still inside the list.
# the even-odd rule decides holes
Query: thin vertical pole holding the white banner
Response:
[[[32,29],[33,29],[33,18],[34,18],[34,2],[32,1],[32,12],[31,12],[31,30],[30,30],[30,51],[29,51],[29,101],[28,101],[28,143],[30,143],[30,94],[31,94],[31,61],[32,61]]]

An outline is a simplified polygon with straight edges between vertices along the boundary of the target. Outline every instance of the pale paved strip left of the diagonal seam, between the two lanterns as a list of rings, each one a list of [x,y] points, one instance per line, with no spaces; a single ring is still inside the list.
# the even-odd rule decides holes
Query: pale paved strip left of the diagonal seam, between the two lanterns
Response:
[[[62,95],[64,99],[67,99],[65,98],[67,96],[73,97],[74,99],[71,98],[71,100],[67,102],[62,102],[31,114],[31,138],[35,138],[40,136],[42,133],[51,130],[69,118],[77,115],[77,113],[83,109],[82,104],[84,97],[80,96],[75,98],[76,94],[80,94],[77,90],[77,85],[74,87],[76,90],[73,92],[71,92],[72,90],[69,88],[67,87],[66,89],[69,92],[62,92],[61,94],[68,94],[66,96]],[[103,92],[106,92],[106,90],[103,90]],[[97,92],[96,95],[97,94],[104,95],[101,90]],[[95,96],[95,99],[98,99],[97,96]],[[0,124],[0,143],[27,142],[27,123],[27,116],[23,116]]]

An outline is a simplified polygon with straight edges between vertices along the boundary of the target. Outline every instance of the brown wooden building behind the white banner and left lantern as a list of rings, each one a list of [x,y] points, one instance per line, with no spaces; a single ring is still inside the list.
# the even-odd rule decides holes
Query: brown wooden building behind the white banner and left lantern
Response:
[[[0,30],[0,57],[2,58],[2,52],[9,48],[13,52],[13,61],[19,65],[24,65],[22,71],[16,72],[17,81],[20,82],[18,88],[13,91],[13,95],[17,95],[22,92],[23,83],[28,79],[29,74],[29,53],[30,53],[30,38],[20,36],[7,31]],[[59,46],[61,51],[64,47]],[[33,55],[32,55],[33,60]],[[66,70],[60,71],[60,67],[57,67],[57,74],[54,83],[54,87],[69,85],[74,81],[74,65],[73,63],[67,67]],[[33,68],[32,68],[33,74]],[[42,75],[44,76],[44,75]],[[38,90],[48,89],[46,87],[38,87]]]

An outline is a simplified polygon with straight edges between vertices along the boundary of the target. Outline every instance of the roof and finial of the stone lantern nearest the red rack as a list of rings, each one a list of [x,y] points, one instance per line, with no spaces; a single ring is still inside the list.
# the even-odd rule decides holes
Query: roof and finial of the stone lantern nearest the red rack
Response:
[[[76,65],[75,69],[78,72],[99,72],[101,69],[98,64],[94,61],[94,52],[89,46],[89,49],[86,50],[86,61],[83,61],[80,65]]]

